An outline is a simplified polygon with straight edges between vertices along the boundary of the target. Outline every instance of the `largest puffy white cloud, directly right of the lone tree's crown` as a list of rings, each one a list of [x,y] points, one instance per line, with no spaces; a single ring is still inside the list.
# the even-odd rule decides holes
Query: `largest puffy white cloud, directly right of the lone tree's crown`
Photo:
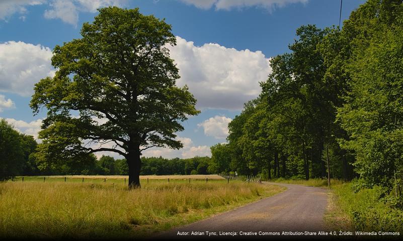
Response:
[[[271,73],[269,59],[261,51],[213,43],[198,47],[179,36],[177,45],[168,48],[181,75],[177,84],[187,84],[201,108],[240,110],[259,95],[259,82]]]

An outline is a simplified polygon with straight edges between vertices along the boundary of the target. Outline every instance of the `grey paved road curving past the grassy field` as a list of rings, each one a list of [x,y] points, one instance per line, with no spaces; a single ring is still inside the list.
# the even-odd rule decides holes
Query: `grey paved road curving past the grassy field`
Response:
[[[224,212],[213,217],[176,227],[157,235],[164,238],[193,239],[178,232],[282,232],[325,231],[324,213],[327,206],[327,190],[324,188],[270,183],[287,187],[287,190]],[[217,237],[217,236],[216,236]],[[208,236],[200,236],[208,238]],[[267,238],[267,237],[266,237]]]

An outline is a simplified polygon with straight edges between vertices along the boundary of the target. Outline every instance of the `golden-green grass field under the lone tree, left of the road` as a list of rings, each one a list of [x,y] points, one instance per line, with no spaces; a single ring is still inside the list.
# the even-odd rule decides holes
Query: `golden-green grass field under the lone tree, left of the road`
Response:
[[[106,178],[106,177],[104,177]],[[132,238],[206,218],[277,194],[274,185],[189,176],[141,179],[128,190],[124,177],[24,177],[0,183],[0,236],[14,238]],[[126,183],[127,184],[127,183]]]

